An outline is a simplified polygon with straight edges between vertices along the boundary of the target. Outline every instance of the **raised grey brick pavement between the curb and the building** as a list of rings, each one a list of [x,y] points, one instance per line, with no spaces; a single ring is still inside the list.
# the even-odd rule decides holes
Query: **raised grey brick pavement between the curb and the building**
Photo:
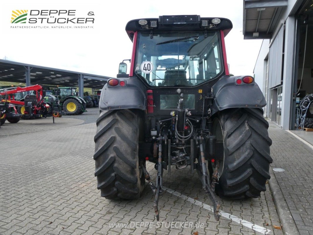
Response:
[[[272,168],[301,235],[313,235],[313,150],[270,122]]]

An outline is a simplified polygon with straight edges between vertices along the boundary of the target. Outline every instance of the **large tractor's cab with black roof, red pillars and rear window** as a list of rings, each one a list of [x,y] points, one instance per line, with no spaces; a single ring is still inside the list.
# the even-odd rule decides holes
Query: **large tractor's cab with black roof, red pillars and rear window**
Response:
[[[228,75],[224,36],[232,23],[198,15],[132,20],[131,73],[151,87],[193,87]]]

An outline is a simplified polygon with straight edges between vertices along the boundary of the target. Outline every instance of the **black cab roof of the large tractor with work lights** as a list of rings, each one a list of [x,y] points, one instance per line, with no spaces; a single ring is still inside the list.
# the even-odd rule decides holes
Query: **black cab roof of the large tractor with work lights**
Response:
[[[171,15],[159,16],[159,18],[141,18],[129,21],[126,24],[126,33],[133,41],[134,33],[137,32],[179,32],[179,31],[216,31],[223,30],[224,36],[233,28],[232,22],[227,18],[220,19],[220,23],[213,24],[216,17],[200,17],[199,15]],[[146,24],[139,24],[145,20]],[[144,22],[145,22],[144,21]],[[154,25],[153,25],[154,24]],[[153,26],[152,26],[153,25]],[[151,27],[152,26],[152,27]]]

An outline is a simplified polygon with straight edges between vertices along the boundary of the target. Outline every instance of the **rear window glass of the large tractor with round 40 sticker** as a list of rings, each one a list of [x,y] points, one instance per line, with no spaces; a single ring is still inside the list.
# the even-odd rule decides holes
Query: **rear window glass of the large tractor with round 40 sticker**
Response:
[[[138,33],[134,69],[150,86],[197,86],[222,66],[218,32]]]

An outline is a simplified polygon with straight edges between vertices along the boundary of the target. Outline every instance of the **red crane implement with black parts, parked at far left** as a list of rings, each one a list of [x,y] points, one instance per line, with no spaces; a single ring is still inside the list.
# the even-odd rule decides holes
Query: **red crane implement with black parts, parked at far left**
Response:
[[[33,94],[27,94],[23,101],[15,100],[14,94],[21,92],[31,92]],[[34,119],[51,117],[53,115],[59,116],[50,108],[51,103],[44,102],[45,91],[40,85],[2,89],[0,90],[0,96],[0,102],[3,102],[0,117],[2,124],[5,120],[8,120],[10,123],[17,123],[20,118]],[[50,102],[53,102],[55,97],[50,96],[49,99]]]

